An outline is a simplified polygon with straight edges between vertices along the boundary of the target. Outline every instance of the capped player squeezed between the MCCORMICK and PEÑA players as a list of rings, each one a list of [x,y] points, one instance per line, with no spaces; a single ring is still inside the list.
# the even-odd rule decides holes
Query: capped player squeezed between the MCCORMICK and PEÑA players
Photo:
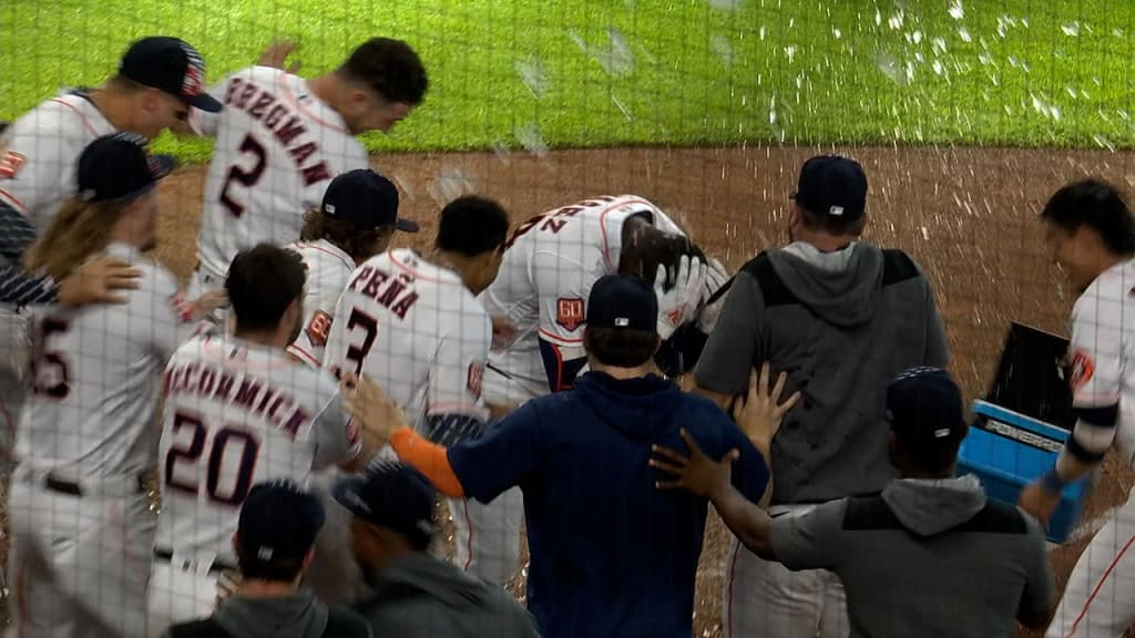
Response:
[[[289,353],[316,368],[323,364],[335,304],[351,272],[385,251],[395,230],[417,233],[418,224],[398,218],[398,190],[389,179],[359,168],[331,181],[320,207],[304,215],[300,241],[287,246],[300,253],[308,271],[303,330]]]

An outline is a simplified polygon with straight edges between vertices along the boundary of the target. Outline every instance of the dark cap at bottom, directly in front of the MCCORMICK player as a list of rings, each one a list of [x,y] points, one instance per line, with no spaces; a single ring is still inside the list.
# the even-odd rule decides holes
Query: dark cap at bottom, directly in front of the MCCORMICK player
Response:
[[[257,484],[241,506],[237,545],[242,560],[302,561],[323,527],[323,506],[295,482]]]

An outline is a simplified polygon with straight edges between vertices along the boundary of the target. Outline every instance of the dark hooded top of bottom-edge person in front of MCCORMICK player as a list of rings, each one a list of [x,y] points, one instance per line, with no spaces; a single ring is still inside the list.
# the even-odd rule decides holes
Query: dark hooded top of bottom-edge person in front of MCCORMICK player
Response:
[[[328,630],[329,616],[335,624]],[[217,608],[211,619],[175,626],[162,638],[216,636],[216,629],[232,638],[336,638],[369,637],[364,619],[347,610],[329,611],[306,589],[279,598],[234,596]]]

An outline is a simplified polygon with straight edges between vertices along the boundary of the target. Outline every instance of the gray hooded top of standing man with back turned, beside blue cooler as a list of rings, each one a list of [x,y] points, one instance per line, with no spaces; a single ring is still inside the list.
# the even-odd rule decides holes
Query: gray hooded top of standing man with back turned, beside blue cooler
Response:
[[[695,378],[737,395],[765,361],[802,398],[773,440],[774,504],[877,494],[898,477],[886,454],[885,392],[915,366],[944,367],[930,282],[901,251],[822,253],[796,243],[747,263],[729,289]]]

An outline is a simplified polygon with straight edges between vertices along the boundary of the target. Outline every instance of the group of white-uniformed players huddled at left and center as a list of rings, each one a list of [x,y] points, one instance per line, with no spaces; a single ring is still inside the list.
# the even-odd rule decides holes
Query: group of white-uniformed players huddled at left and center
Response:
[[[208,615],[251,486],[318,490],[393,454],[340,409],[343,372],[376,380],[406,422],[449,445],[571,386],[603,275],[654,284],[666,371],[689,369],[712,327],[724,270],[633,195],[557,208],[511,236],[499,204],[463,196],[440,211],[431,251],[388,250],[419,227],[355,135],[421,102],[420,60],[375,39],[304,79],[281,68],[288,51],[207,89],[192,47],[143,39],[104,85],[52,98],[0,136],[0,216],[23,242],[3,246],[3,277],[32,295],[6,295],[27,305],[9,316],[2,379],[18,421],[10,607],[27,635],[158,636]],[[143,257],[171,169],[146,144],[166,128],[215,138],[187,293]],[[519,495],[449,506],[455,561],[513,577]],[[327,526],[323,561],[343,560],[346,534]],[[345,596],[347,579],[319,573],[317,589]]]

